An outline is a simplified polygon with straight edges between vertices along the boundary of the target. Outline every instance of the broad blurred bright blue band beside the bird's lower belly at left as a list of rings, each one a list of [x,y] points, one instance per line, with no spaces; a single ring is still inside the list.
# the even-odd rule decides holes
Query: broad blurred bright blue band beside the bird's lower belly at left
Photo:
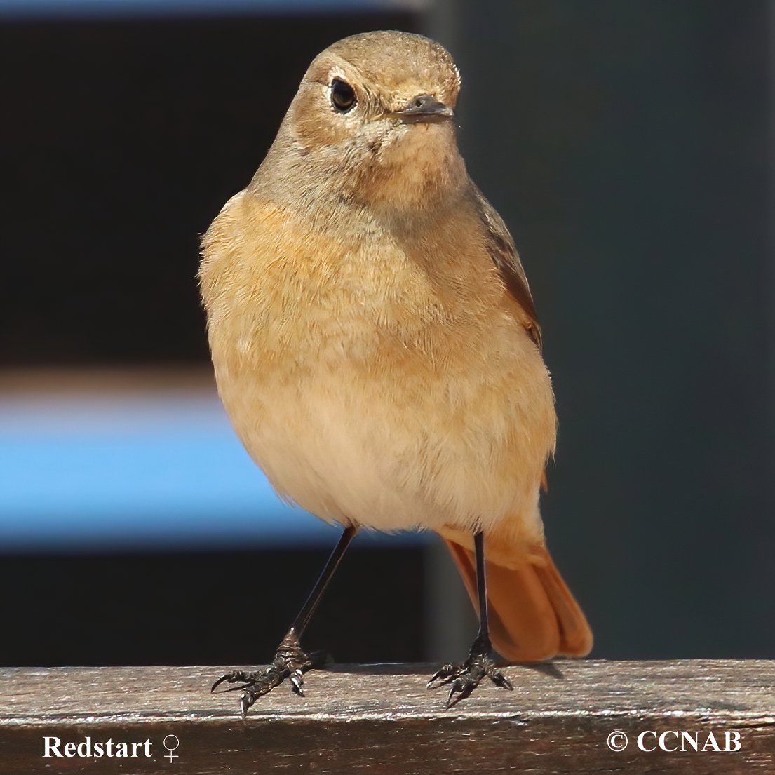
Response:
[[[277,498],[214,394],[0,398],[0,551],[319,545],[337,532]]]

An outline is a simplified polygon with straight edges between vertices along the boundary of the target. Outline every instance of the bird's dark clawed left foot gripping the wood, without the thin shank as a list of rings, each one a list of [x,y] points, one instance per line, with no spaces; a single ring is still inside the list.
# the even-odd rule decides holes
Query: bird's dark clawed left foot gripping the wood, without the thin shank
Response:
[[[263,697],[269,694],[274,687],[279,686],[286,678],[291,681],[291,686],[295,694],[304,697],[304,673],[317,667],[325,661],[325,655],[314,653],[308,655],[301,650],[298,637],[293,629],[288,631],[280,646],[277,647],[277,653],[274,660],[266,670],[257,670],[246,673],[244,670],[234,670],[232,673],[222,675],[215,684],[212,684],[210,691],[215,691],[220,684],[237,684],[226,689],[226,691],[242,691],[239,695],[239,708],[242,711],[243,718],[247,715],[247,709]]]

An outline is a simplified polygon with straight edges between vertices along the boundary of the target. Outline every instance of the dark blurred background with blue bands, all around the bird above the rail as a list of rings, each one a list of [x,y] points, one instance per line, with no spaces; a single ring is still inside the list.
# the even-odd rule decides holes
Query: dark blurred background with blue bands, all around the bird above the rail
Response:
[[[274,653],[338,531],[229,427],[198,236],[309,61],[369,29],[462,71],[460,144],[543,323],[543,513],[593,656],[775,657],[773,5],[0,0],[0,663]],[[305,645],[463,656],[445,551],[360,536]]]

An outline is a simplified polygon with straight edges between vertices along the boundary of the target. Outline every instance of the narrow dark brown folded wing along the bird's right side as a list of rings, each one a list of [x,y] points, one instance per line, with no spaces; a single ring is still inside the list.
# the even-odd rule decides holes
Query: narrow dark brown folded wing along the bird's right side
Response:
[[[540,350],[541,326],[536,315],[536,305],[533,304],[528,278],[525,277],[525,270],[522,269],[512,235],[508,233],[506,224],[498,215],[498,211],[484,198],[484,194],[475,185],[473,188],[474,202],[482,224],[487,230],[487,252],[498,267],[509,293],[525,313],[522,323],[528,336]]]

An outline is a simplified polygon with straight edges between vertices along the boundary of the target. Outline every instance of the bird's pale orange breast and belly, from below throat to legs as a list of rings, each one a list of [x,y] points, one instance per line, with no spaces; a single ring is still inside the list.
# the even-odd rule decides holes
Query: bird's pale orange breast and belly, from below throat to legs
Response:
[[[243,192],[203,249],[219,392],[281,496],[377,529],[540,538],[551,384],[475,229],[337,228]]]

